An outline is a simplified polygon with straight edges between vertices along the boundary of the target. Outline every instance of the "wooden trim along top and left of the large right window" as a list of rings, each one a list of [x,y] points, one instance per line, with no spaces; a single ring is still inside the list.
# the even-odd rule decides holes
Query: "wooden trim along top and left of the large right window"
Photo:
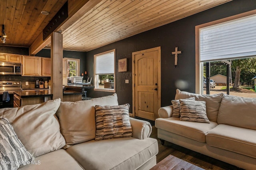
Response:
[[[212,26],[215,24],[220,24],[223,22],[228,22],[231,20],[236,20],[238,18],[243,18],[246,16],[254,15],[254,14],[256,14],[256,10],[244,12],[242,14],[237,14],[234,16],[222,18],[220,20],[216,20],[216,21],[212,21],[212,22],[208,22],[208,23],[204,23],[204,24],[195,26],[195,35],[196,35],[196,38],[195,38],[195,40],[196,40],[196,89],[195,90],[196,90],[196,93],[201,94],[203,92],[202,85],[200,84],[200,82],[202,82],[202,76],[201,76],[202,70],[200,67],[200,56],[199,56],[199,30],[200,30],[200,28]]]

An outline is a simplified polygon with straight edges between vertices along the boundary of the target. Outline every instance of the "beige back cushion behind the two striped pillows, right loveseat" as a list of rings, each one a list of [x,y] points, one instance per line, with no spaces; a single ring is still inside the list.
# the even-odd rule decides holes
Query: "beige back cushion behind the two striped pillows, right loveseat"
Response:
[[[206,114],[209,121],[217,122],[218,111],[223,95],[224,93],[218,93],[214,95],[199,95],[176,89],[175,100],[195,97],[196,101],[206,101]]]

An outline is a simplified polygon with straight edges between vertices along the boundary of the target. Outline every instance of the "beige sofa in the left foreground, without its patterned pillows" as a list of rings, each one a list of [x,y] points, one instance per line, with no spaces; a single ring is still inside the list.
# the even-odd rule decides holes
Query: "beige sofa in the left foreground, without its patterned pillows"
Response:
[[[96,105],[117,106],[117,95],[114,93],[75,103],[55,99],[38,105],[0,109],[0,118],[8,119],[24,145],[18,152],[13,152],[14,156],[11,155],[14,159],[24,160],[26,165],[18,169],[148,170],[154,166],[158,143],[156,139],[149,138],[152,130],[150,123],[128,117],[132,137],[96,141]],[[11,163],[16,164],[13,160],[6,160],[1,162],[0,169],[1,166],[7,169]]]

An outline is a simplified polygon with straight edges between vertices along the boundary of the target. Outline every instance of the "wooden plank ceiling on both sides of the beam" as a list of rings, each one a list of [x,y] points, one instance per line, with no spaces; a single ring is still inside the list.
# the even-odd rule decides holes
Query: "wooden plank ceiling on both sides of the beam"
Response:
[[[67,0],[1,0],[0,25],[5,25],[5,44],[30,47]],[[89,0],[95,1],[95,0]],[[63,34],[63,48],[90,51],[124,38],[174,22],[230,0],[98,0],[69,26]],[[75,0],[68,0],[71,5]],[[85,4],[86,6],[86,4]],[[40,14],[48,11],[48,16]],[[50,44],[47,45],[50,47]]]

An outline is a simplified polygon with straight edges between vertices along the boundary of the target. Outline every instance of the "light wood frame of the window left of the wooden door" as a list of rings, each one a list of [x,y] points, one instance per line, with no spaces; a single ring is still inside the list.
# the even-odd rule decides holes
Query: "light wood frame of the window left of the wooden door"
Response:
[[[96,57],[107,54],[107,53],[111,53],[114,52],[114,89],[110,89],[110,88],[106,88],[106,89],[102,89],[102,88],[98,88],[98,75],[96,74]],[[110,73],[111,74],[111,73]],[[107,74],[107,75],[110,75]],[[100,74],[103,75],[103,74]],[[105,51],[102,53],[98,53],[94,55],[94,91],[105,91],[105,92],[112,92],[112,93],[116,93],[116,49],[112,49],[109,51]]]

